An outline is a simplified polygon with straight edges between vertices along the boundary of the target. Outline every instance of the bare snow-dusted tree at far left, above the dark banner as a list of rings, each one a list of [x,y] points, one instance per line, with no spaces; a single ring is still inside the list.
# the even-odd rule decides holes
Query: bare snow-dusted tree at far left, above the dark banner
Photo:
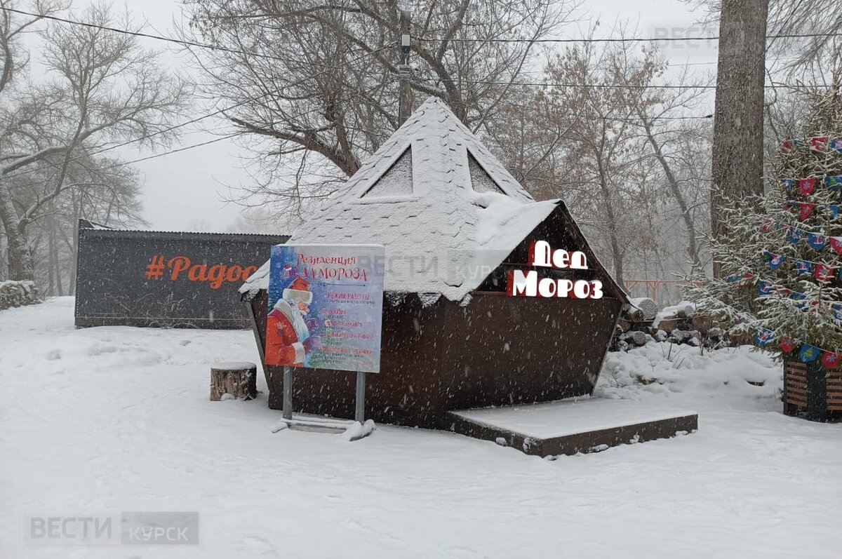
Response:
[[[86,8],[82,19],[115,23],[104,5]],[[51,80],[0,92],[0,223],[12,279],[34,275],[27,227],[49,215],[62,194],[89,186],[73,179],[83,170],[80,162],[121,141],[168,141],[166,130],[187,93],[183,82],[163,70],[157,53],[142,49],[132,35],[56,25],[40,36]]]

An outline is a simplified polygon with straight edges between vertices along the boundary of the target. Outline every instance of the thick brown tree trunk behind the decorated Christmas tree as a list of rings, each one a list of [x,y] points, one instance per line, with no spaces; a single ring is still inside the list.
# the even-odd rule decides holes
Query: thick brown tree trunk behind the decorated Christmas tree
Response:
[[[722,0],[713,123],[711,228],[727,236],[721,210],[763,194],[763,84],[769,0]],[[714,263],[714,274],[719,275]]]

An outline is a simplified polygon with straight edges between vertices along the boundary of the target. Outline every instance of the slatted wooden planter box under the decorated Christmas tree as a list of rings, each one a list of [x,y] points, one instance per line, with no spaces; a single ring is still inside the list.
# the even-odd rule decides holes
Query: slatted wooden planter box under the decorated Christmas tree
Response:
[[[842,419],[842,366],[784,361],[784,413],[811,421]]]

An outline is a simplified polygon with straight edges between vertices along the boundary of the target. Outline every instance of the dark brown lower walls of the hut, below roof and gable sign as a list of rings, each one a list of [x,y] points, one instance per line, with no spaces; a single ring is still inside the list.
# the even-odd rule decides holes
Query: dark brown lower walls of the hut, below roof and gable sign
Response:
[[[252,302],[264,339],[265,293]],[[367,375],[366,416],[446,429],[446,412],[546,402],[593,391],[621,301],[477,293],[424,307],[410,294],[383,308],[381,372]],[[269,366],[269,407],[282,407],[283,367]],[[354,374],[295,369],[296,411],[350,418]]]

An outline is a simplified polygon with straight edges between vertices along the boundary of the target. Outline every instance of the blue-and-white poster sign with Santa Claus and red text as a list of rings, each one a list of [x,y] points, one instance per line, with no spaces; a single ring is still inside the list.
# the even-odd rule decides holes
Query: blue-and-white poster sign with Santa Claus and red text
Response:
[[[267,365],[380,372],[381,245],[276,245]]]

